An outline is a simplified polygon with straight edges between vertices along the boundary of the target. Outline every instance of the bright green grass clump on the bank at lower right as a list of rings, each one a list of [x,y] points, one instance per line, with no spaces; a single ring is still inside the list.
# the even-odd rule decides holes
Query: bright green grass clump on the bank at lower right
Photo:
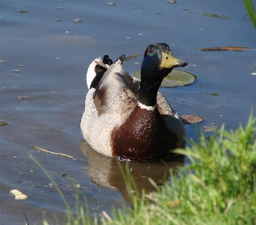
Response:
[[[136,207],[102,224],[256,224],[256,118],[211,140],[177,150],[191,164],[158,193],[134,196]]]

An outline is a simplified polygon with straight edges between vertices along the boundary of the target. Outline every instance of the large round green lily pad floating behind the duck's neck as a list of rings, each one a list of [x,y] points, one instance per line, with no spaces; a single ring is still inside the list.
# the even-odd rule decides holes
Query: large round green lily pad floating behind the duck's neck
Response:
[[[134,78],[141,79],[141,71],[133,73]],[[190,74],[187,71],[172,69],[172,71],[163,78],[161,87],[177,87],[192,84],[197,79],[197,76]]]

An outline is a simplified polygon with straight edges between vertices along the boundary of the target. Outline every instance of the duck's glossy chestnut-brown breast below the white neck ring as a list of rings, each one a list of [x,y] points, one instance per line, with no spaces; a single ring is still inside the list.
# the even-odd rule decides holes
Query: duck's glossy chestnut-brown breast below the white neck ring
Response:
[[[158,110],[136,105],[130,117],[111,132],[113,157],[150,160],[164,157],[176,147],[177,137],[163,123]]]

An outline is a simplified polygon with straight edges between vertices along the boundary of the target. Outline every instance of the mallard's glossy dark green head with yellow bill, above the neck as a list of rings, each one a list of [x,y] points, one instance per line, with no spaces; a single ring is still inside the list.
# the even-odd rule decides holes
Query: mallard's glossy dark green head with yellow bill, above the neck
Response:
[[[163,80],[172,71],[172,68],[185,65],[187,65],[187,62],[175,59],[172,56],[168,44],[151,44],[145,50],[141,71],[142,79],[145,76],[157,76]]]

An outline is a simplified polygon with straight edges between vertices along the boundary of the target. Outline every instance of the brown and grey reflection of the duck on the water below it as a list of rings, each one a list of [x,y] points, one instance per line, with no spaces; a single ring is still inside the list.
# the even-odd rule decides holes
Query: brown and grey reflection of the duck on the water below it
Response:
[[[93,183],[100,187],[107,187],[111,190],[118,190],[127,202],[131,202],[130,191],[127,189],[120,166],[126,171],[126,162],[120,162],[114,158],[98,154],[90,147],[87,141],[81,141],[81,151],[88,158],[89,166],[84,166],[85,172],[90,175]],[[166,162],[154,161],[130,161],[130,174],[136,183],[137,190],[142,193],[155,191],[155,187],[148,181],[151,178],[157,186],[163,186],[169,180],[169,170],[173,175],[178,174],[180,167],[184,166],[184,156],[173,154]]]

